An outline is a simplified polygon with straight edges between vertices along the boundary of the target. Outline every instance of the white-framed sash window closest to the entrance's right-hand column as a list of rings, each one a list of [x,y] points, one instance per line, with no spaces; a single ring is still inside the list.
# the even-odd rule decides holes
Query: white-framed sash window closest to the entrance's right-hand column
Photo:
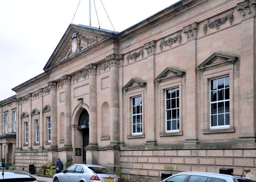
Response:
[[[142,97],[137,96],[132,98],[132,114],[131,114],[131,125],[132,134],[142,134]]]

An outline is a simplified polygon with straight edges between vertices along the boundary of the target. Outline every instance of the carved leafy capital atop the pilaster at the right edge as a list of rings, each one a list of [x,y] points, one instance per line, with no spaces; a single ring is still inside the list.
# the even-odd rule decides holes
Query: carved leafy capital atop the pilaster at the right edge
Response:
[[[245,0],[237,4],[237,11],[242,15],[242,20],[255,16],[256,0]]]

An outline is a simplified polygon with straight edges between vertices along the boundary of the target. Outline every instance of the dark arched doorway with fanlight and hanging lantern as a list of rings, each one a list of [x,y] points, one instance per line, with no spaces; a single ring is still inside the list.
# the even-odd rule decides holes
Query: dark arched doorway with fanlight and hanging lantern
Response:
[[[89,113],[85,109],[79,116],[77,129],[83,132],[83,162],[86,163],[85,147],[89,145]]]

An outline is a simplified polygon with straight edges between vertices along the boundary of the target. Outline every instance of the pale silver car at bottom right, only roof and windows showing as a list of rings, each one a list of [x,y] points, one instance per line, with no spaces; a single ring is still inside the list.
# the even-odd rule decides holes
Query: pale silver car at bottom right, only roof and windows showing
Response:
[[[255,182],[249,178],[218,173],[181,172],[161,182]]]

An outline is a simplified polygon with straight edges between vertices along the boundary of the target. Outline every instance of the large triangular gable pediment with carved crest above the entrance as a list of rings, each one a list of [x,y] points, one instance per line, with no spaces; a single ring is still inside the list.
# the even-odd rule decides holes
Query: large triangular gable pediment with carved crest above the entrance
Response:
[[[112,33],[118,32],[86,25],[70,24],[43,70],[79,55],[93,47],[93,45],[99,44],[103,39],[111,36]]]

